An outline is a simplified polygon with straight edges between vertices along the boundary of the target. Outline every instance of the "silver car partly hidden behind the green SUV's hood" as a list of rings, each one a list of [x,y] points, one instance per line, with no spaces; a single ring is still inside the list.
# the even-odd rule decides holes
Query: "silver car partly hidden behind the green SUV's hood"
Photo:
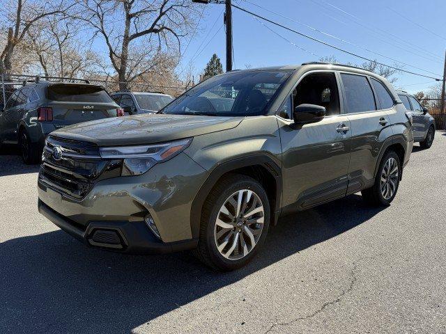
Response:
[[[125,115],[156,113],[174,101],[174,97],[164,93],[142,93],[127,90],[112,93],[112,97],[124,110]]]

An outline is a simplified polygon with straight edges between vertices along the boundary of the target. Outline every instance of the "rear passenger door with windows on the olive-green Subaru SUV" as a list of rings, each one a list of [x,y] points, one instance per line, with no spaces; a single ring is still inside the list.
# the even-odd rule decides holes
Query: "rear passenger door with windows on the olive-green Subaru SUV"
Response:
[[[346,116],[351,122],[351,161],[348,168],[348,193],[354,193],[374,182],[378,155],[385,139],[392,136],[387,110],[394,102],[379,81],[362,74],[341,73]],[[390,105],[389,105],[390,104]],[[389,108],[390,107],[390,108]]]

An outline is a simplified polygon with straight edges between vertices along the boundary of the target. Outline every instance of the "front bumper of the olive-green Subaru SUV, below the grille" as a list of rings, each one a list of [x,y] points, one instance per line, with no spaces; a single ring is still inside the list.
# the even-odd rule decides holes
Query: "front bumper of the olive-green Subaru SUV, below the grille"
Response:
[[[144,175],[100,180],[80,199],[61,193],[39,177],[38,208],[89,246],[123,253],[170,253],[197,246],[190,212],[206,176],[206,170],[181,153]],[[146,225],[148,214],[161,239]],[[98,230],[102,232],[96,233]]]

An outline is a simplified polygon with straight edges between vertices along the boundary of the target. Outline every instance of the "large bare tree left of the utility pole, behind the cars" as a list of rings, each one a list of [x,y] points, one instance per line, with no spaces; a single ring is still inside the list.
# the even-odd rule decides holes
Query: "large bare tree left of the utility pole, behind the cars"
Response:
[[[93,27],[93,38],[101,36],[105,41],[112,66],[121,81],[120,89],[154,72],[167,58],[178,62],[180,42],[192,31],[199,14],[197,5],[190,0],[76,2],[82,13],[76,15],[77,19]]]

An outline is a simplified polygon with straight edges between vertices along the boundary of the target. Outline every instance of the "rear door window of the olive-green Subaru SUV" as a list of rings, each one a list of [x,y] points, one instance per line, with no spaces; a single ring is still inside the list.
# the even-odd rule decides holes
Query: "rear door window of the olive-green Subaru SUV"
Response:
[[[376,110],[374,93],[367,77],[341,73],[346,94],[346,112],[362,113]]]

